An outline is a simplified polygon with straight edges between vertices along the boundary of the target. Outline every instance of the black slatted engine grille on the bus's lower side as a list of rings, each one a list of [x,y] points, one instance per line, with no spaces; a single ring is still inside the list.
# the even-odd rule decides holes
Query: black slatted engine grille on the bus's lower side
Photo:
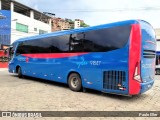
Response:
[[[125,71],[105,71],[103,76],[103,88],[110,90],[121,90],[123,82],[126,81]]]

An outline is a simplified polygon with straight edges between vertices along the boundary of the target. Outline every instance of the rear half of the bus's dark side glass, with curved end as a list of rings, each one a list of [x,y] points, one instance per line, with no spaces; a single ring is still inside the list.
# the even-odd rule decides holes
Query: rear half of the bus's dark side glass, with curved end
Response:
[[[106,52],[122,48],[129,39],[131,26],[119,26],[74,34],[71,36],[73,52]]]

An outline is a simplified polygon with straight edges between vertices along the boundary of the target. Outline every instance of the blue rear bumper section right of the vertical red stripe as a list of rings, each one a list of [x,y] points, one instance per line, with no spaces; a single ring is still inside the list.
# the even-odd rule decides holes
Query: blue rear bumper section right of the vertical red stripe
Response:
[[[141,93],[146,92],[147,90],[149,90],[152,86],[153,86],[154,81],[150,81],[150,82],[146,82],[146,83],[141,83]]]

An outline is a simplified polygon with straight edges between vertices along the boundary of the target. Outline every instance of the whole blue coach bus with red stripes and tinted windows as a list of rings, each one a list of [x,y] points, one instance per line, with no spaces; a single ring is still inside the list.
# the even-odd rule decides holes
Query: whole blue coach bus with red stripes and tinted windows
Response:
[[[120,95],[154,83],[156,39],[143,20],[127,20],[22,38],[10,48],[9,72]]]

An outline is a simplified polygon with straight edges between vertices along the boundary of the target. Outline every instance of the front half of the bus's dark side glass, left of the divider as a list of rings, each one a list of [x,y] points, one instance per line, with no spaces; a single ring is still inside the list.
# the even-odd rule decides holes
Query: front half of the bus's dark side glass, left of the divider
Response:
[[[69,35],[20,43],[17,54],[27,53],[61,53],[69,51]]]

